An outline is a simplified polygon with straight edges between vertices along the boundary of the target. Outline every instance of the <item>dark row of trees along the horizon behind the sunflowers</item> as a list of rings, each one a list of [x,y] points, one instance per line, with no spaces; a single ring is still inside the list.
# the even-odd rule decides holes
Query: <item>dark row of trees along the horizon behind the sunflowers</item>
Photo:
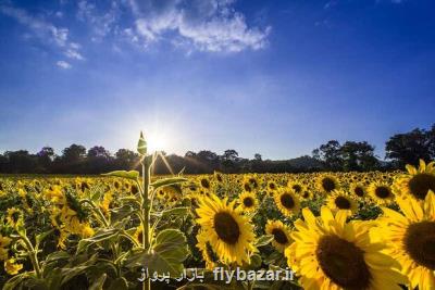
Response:
[[[418,164],[435,160],[435,124],[430,129],[415,128],[409,133],[396,134],[385,143],[385,160],[374,153],[375,148],[366,141],[330,140],[304,155],[290,160],[263,160],[261,154],[244,159],[236,150],[222,154],[209,150],[188,151],[184,156],[164,155],[172,173],[300,173],[320,171],[388,171],[403,168],[406,164]],[[55,154],[50,147],[37,153],[26,150],[5,151],[0,154],[0,173],[3,174],[100,174],[115,169],[136,169],[139,155],[128,149],[111,154],[101,146],[86,149],[72,144]],[[153,168],[156,174],[171,173],[165,162],[159,159]]]

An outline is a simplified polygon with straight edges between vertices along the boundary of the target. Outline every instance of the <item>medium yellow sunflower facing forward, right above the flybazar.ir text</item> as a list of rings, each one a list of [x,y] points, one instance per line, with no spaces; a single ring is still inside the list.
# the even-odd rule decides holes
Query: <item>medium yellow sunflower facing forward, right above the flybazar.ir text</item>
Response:
[[[239,210],[234,209],[235,201],[227,203],[227,198],[220,200],[216,196],[204,197],[199,200],[196,210],[208,242],[224,263],[250,263],[250,254],[256,251],[256,240],[252,225],[243,216]]]

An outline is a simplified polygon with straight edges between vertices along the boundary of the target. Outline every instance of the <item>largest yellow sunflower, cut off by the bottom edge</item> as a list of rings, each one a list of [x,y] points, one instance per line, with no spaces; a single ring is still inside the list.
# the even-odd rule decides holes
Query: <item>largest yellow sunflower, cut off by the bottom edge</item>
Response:
[[[401,289],[398,283],[406,278],[396,270],[398,265],[381,252],[382,243],[370,240],[372,223],[346,223],[345,212],[333,215],[327,206],[320,217],[309,209],[302,215],[285,256],[303,289]]]

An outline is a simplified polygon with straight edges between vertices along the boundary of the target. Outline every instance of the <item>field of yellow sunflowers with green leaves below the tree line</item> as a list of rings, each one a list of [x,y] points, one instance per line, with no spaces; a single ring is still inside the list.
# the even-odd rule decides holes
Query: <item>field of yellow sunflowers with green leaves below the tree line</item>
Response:
[[[138,152],[141,174],[0,177],[2,289],[435,289],[435,163],[153,177]]]

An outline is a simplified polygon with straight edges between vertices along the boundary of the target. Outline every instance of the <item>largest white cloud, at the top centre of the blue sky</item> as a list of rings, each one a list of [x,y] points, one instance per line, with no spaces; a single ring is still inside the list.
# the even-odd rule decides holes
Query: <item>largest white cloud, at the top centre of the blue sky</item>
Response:
[[[231,0],[129,0],[136,17],[126,30],[144,46],[173,38],[172,43],[201,51],[237,52],[262,49],[271,27],[249,27],[245,15],[235,11]],[[177,39],[179,38],[179,39]],[[130,37],[137,42],[137,38]]]

